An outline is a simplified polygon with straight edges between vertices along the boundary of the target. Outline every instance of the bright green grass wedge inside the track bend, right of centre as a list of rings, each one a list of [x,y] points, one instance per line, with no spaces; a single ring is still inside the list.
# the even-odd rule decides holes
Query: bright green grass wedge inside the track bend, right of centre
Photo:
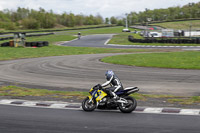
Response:
[[[171,52],[171,53],[145,53],[129,54],[106,57],[102,61],[113,64],[178,68],[200,69],[200,52]]]

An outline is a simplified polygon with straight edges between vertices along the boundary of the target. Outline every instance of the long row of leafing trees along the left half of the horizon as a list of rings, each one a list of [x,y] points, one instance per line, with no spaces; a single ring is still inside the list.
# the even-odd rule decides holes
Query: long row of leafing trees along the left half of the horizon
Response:
[[[56,14],[52,10],[45,11],[18,8],[16,11],[3,10],[0,11],[0,28],[6,30],[14,29],[39,29],[57,27],[74,27],[81,25],[99,25],[104,20],[101,15],[75,15],[73,13]]]

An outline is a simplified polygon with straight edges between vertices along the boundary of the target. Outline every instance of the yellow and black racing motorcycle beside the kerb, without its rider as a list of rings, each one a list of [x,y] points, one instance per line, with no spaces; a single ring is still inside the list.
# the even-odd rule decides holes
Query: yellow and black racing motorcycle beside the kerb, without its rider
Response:
[[[100,84],[95,85],[89,91],[89,96],[82,102],[84,111],[94,111],[95,109],[118,109],[123,113],[131,113],[137,106],[137,101],[134,97],[129,96],[132,93],[138,92],[138,87],[128,87],[124,90],[116,92],[119,96],[114,99],[105,92]]]

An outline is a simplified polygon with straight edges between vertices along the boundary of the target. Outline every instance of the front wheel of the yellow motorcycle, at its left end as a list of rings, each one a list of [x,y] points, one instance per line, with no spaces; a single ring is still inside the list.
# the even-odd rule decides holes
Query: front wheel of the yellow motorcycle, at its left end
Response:
[[[90,99],[88,97],[83,100],[82,108],[84,111],[90,112],[96,108],[96,103],[94,103],[93,101],[89,103],[89,101]]]

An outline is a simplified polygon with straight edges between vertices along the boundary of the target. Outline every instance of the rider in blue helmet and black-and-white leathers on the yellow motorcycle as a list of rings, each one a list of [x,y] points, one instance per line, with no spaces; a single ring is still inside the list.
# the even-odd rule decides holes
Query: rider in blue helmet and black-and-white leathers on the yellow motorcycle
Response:
[[[105,88],[106,93],[110,94],[114,99],[119,99],[119,97],[115,94],[117,91],[123,90],[123,86],[119,78],[112,70],[106,71],[105,76],[107,81],[101,86],[106,87],[111,85],[111,87]]]

